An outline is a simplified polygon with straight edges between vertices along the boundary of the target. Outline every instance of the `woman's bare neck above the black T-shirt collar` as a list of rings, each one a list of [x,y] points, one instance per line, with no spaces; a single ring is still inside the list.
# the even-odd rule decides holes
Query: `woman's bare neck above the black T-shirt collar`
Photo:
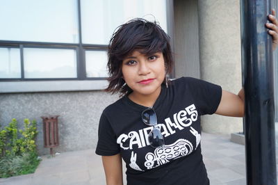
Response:
[[[142,95],[142,94],[138,94],[136,92],[132,92],[128,97],[129,97],[129,99],[131,99],[132,102],[135,102],[136,104],[151,107],[151,106],[154,106],[154,103],[156,102],[156,99],[158,98],[160,93],[161,93],[161,87],[159,87],[151,95]]]

